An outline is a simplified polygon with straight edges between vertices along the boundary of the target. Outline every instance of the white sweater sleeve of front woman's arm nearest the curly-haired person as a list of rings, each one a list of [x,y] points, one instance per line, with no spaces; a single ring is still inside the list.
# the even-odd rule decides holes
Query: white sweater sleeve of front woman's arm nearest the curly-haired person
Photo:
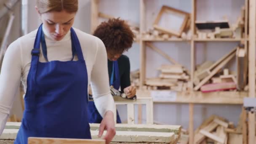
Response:
[[[109,89],[107,52],[104,43],[96,38],[97,52],[91,72],[91,88],[95,106],[102,117],[107,111],[114,112],[114,99]]]

